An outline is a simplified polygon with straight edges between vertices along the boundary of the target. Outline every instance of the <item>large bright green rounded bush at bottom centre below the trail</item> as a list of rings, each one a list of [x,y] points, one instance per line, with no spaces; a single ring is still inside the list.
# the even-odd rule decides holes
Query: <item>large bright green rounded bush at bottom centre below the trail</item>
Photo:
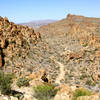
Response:
[[[56,95],[58,90],[51,84],[45,84],[34,87],[34,91],[34,96],[38,100],[50,100],[50,98],[53,98]]]

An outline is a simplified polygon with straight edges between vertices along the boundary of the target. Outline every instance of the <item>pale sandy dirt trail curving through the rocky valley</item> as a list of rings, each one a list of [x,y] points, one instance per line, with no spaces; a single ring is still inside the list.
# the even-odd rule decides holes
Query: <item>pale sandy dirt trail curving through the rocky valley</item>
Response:
[[[59,65],[59,67],[60,67],[60,73],[59,73],[58,77],[56,78],[55,83],[61,84],[60,81],[61,81],[61,80],[64,80],[64,77],[65,77],[65,71],[64,71],[65,66],[64,66],[61,62],[59,62],[59,61],[56,61],[56,60],[54,60],[54,61],[55,61],[55,63],[57,63],[57,64]]]

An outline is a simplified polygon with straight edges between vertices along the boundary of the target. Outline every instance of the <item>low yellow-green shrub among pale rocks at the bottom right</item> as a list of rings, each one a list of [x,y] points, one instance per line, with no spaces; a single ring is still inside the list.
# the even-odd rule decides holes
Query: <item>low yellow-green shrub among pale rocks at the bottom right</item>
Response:
[[[73,100],[77,100],[79,96],[89,96],[89,95],[91,95],[90,91],[84,88],[79,88],[73,92]]]

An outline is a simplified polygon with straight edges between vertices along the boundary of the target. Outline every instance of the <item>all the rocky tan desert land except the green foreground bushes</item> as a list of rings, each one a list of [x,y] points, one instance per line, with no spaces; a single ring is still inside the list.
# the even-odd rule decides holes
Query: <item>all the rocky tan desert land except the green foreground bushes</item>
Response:
[[[68,14],[34,30],[0,17],[0,68],[15,74],[11,89],[23,94],[1,93],[0,100],[100,100],[100,18]],[[29,86],[16,85],[21,77]],[[60,88],[57,94],[35,98],[33,86],[46,82]],[[93,93],[73,99],[80,88]]]

